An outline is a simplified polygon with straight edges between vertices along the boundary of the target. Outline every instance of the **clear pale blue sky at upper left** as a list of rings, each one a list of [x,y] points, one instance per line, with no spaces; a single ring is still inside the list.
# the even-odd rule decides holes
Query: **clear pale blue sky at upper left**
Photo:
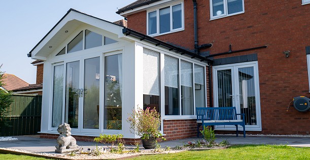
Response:
[[[115,12],[135,0],[29,0],[0,2],[1,71],[15,74],[29,84],[36,83],[36,66],[27,53],[70,9],[105,19],[123,19]]]

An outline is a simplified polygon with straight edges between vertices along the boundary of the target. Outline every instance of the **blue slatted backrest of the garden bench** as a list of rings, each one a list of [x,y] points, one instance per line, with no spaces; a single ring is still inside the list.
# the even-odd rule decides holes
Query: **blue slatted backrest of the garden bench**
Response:
[[[197,121],[236,120],[236,107],[197,107]]]

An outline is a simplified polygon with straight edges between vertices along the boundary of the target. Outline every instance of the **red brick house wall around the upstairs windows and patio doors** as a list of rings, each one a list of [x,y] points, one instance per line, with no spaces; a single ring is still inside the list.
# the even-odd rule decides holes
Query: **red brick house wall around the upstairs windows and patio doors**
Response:
[[[266,49],[215,57],[257,53],[262,132],[255,133],[309,132],[310,112],[298,112],[292,103],[288,112],[286,109],[293,97],[310,96],[305,55],[305,47],[310,46],[310,5],[302,6],[301,0],[245,1],[244,14],[210,20],[210,1],[197,3],[199,45],[213,43],[212,48],[201,51],[210,51],[211,54],[227,52],[229,44],[233,51],[268,46]],[[184,12],[184,31],[156,38],[193,50],[192,1],[184,2]],[[145,19],[146,12],[131,15],[128,26],[146,33]],[[287,50],[291,51],[288,58],[282,53]]]

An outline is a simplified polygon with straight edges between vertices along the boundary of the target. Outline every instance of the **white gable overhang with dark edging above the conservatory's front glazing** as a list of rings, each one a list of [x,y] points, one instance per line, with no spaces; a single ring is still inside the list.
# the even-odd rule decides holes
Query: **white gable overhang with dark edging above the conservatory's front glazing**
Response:
[[[59,46],[72,31],[82,24],[92,25],[120,36],[123,35],[123,26],[70,9],[29,52],[31,58],[46,60],[46,57],[55,50],[56,46]]]

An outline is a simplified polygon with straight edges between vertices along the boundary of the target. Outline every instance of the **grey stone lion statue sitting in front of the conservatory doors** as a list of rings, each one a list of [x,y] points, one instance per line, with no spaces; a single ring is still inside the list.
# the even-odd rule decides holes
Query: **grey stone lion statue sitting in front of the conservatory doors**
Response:
[[[59,125],[57,132],[60,134],[57,138],[56,149],[74,149],[78,148],[77,141],[74,137],[71,136],[71,128],[69,124]]]

